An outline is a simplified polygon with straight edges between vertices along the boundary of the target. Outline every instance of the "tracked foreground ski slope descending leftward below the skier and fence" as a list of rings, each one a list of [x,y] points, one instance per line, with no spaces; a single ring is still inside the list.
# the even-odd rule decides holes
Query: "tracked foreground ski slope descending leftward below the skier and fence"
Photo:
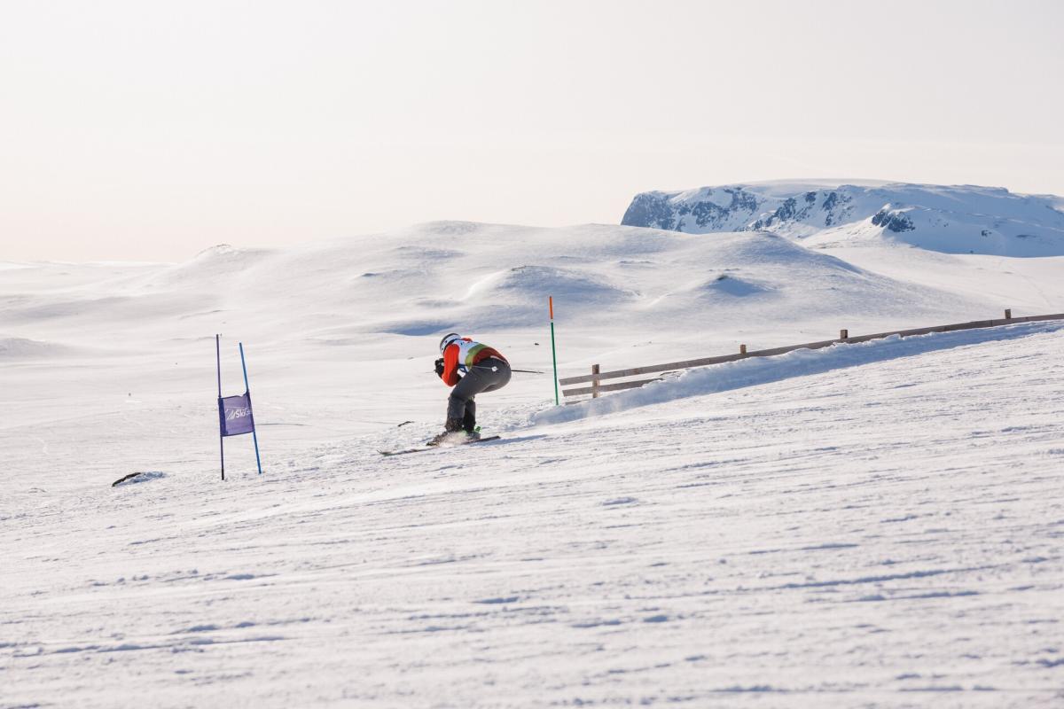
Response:
[[[1062,349],[4,504],[0,706],[1060,706]]]

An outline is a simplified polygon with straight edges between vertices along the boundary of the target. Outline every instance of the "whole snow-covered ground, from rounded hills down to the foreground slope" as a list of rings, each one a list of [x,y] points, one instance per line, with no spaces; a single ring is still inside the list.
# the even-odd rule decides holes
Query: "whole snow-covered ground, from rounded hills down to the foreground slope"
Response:
[[[0,707],[1064,706],[1060,323],[515,375],[502,440],[378,453],[438,429],[442,332],[549,368],[548,292],[578,373],[1064,311],[1062,267],[448,222],[2,268]]]

